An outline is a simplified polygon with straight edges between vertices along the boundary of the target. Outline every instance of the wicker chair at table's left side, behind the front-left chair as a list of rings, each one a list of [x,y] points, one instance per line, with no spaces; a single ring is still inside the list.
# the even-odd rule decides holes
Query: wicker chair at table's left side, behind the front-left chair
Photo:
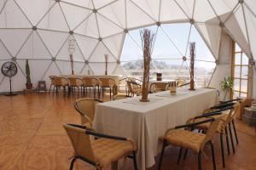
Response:
[[[81,116],[81,123],[83,125],[92,127],[92,122],[94,120],[95,108],[97,103],[102,103],[102,100],[82,98],[82,99],[77,99],[73,103],[74,109],[78,111]]]

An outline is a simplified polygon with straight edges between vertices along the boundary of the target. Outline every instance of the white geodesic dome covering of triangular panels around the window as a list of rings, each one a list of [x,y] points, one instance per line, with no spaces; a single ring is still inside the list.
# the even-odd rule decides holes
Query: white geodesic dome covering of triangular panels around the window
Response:
[[[32,80],[70,74],[68,40],[75,40],[75,72],[98,74],[104,54],[113,73],[120,64],[125,35],[145,26],[187,23],[195,26],[218,60],[221,32],[229,33],[251,59],[256,56],[256,5],[253,0],[1,0],[0,63],[19,67],[15,90],[25,84],[25,60]],[[253,58],[254,56],[254,58]],[[183,56],[180,56],[183,57]],[[122,72],[123,71],[123,72]],[[1,75],[0,91],[8,89]]]

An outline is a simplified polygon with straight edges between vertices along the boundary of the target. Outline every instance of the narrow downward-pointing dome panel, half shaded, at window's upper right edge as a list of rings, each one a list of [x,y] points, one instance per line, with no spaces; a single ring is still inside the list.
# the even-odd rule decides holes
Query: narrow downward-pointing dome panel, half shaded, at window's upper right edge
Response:
[[[212,49],[212,53],[218,58],[218,46],[221,36],[221,28],[218,25],[213,24],[196,24],[198,29],[201,31],[201,35],[206,40],[209,48]]]

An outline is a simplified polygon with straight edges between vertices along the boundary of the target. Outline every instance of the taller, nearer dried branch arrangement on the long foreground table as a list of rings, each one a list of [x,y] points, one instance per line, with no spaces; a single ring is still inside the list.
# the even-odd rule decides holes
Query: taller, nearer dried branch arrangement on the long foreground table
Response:
[[[148,102],[148,82],[149,82],[149,69],[150,69],[150,60],[151,54],[154,44],[154,34],[148,30],[143,29],[140,31],[142,38],[142,46],[143,46],[143,93],[142,102]]]

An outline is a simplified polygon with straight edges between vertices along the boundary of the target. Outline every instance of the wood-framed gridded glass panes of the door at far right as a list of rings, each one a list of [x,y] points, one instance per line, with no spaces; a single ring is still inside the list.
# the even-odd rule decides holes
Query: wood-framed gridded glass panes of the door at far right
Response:
[[[232,98],[246,98],[248,81],[248,58],[235,42],[233,46],[234,54],[232,59],[232,78],[234,81],[234,93],[232,94]]]

